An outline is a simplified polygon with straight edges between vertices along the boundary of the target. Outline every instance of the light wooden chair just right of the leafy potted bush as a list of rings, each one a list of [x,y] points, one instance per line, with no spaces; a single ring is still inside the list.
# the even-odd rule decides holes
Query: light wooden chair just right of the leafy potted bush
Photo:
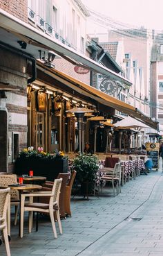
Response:
[[[105,182],[111,182],[113,187],[113,196],[115,196],[116,185],[117,194],[119,194],[119,192],[121,191],[121,163],[116,163],[114,168],[104,167],[103,169],[101,169],[101,171],[104,171],[105,174],[100,178],[100,180]]]

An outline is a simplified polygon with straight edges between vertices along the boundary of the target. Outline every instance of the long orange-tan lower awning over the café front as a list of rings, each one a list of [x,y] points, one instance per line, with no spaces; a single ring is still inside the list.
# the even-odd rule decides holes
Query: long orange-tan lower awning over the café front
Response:
[[[48,76],[52,76],[56,80],[59,80],[61,83],[66,84],[68,87],[73,89],[74,92],[79,92],[80,94],[88,96],[91,99],[102,103],[103,105],[114,108],[119,112],[124,112],[124,114],[128,114],[130,117],[141,121],[147,126],[154,128],[155,130],[158,129],[157,121],[153,121],[151,117],[147,117],[145,114],[143,114],[137,108],[134,108],[132,105],[124,103],[123,101],[119,101],[112,96],[105,94],[104,92],[101,92],[98,89],[95,89],[94,87],[91,87],[90,85],[87,85],[86,83],[83,83],[80,80],[69,76],[68,74],[64,74],[63,72],[58,71],[57,69],[50,69],[48,67],[45,67],[41,62],[37,62],[37,69],[43,71],[44,74],[48,74]]]

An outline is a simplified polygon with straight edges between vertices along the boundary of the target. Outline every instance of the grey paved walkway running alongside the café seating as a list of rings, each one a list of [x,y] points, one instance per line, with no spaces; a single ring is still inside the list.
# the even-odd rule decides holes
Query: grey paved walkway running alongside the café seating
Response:
[[[162,166],[162,165],[160,165]],[[89,200],[72,200],[73,216],[61,221],[63,234],[54,239],[48,218],[39,220],[39,231],[18,237],[11,227],[12,256],[157,256],[163,255],[163,176],[151,171],[122,187],[113,197],[111,188]],[[13,222],[13,215],[12,215]],[[57,226],[57,223],[56,223]],[[57,227],[57,231],[58,227]],[[0,256],[5,256],[0,246]]]

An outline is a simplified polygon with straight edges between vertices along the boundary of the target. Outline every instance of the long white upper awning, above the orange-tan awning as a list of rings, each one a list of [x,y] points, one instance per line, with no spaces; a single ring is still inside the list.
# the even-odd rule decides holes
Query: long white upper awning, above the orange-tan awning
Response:
[[[17,19],[17,17],[10,15],[8,12],[1,9],[0,28],[0,41],[14,46],[21,51],[22,49],[18,44],[18,40],[26,42],[27,47],[26,49],[23,49],[23,51],[32,54],[32,56],[35,56],[35,54],[39,56],[39,49],[54,51],[62,58],[65,58],[69,62],[73,63],[73,65],[85,67],[86,69],[91,69],[99,74],[109,76],[128,87],[132,85],[131,81],[120,76],[111,69],[100,65],[98,62],[95,62],[87,56],[78,53],[69,46],[62,44],[59,40],[50,37],[46,33],[39,31],[37,28],[26,22],[22,22],[20,19]],[[3,28],[8,31],[8,33],[5,33]],[[10,35],[13,35],[13,37]]]

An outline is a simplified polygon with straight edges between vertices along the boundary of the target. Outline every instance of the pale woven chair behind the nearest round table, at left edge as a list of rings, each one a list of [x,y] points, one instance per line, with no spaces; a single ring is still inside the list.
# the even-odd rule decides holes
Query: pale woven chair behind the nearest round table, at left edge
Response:
[[[16,174],[0,174],[0,186],[8,187],[8,185],[17,184]],[[15,205],[15,225],[17,225],[17,215],[19,208],[19,192],[17,190],[10,190],[11,205]]]

